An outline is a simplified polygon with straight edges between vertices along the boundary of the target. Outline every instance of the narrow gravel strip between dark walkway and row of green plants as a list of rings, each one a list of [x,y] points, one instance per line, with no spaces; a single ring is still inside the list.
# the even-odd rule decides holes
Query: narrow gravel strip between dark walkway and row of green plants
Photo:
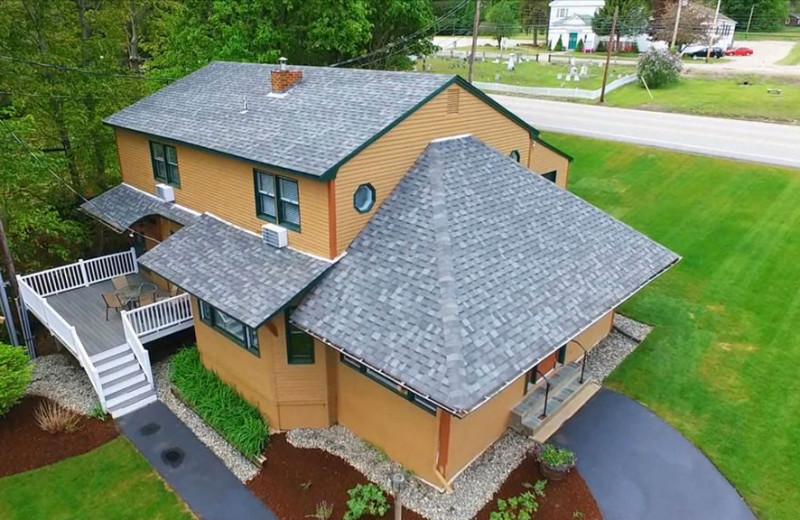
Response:
[[[255,477],[260,468],[247,460],[220,434],[208,426],[199,415],[172,394],[169,381],[170,359],[171,357],[153,365],[153,381],[156,384],[158,400],[172,410],[172,413],[192,430],[197,438],[200,439],[200,442],[219,457],[223,464],[236,475],[236,478],[242,482],[247,482]]]

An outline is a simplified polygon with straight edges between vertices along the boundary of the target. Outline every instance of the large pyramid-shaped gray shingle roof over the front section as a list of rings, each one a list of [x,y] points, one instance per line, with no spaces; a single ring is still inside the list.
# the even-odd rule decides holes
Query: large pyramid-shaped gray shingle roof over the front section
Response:
[[[431,143],[291,319],[474,409],[678,256],[475,138]]]

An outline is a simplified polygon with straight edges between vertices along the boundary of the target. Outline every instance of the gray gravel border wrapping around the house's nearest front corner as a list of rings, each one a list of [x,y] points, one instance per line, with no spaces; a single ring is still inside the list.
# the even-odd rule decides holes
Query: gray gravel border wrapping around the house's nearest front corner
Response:
[[[344,426],[289,430],[286,439],[298,448],[317,448],[341,457],[390,494],[391,475],[405,471]],[[429,520],[474,518],[534,444],[533,439],[509,430],[455,479],[452,493],[441,493],[411,478],[401,494],[403,505]]]

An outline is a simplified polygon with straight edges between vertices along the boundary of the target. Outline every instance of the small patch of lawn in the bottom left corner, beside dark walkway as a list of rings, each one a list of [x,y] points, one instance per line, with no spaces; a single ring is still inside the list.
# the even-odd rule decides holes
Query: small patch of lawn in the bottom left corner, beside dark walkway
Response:
[[[0,518],[194,517],[130,443],[117,438],[84,455],[0,479]]]

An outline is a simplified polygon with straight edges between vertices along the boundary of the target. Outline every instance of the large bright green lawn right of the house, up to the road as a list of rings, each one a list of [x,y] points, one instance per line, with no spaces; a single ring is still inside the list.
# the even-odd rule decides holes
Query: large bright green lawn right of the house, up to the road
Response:
[[[683,432],[759,518],[800,511],[800,170],[548,135],[570,189],[681,254],[621,312],[655,330],[608,384]]]

